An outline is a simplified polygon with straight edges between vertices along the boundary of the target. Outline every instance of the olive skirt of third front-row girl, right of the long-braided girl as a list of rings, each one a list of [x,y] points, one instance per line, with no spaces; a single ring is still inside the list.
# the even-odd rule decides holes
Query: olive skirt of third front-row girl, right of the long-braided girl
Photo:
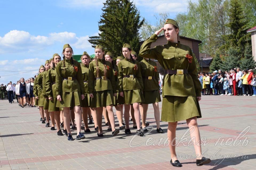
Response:
[[[123,97],[125,99],[124,104],[142,103],[145,101],[141,89],[124,90]]]

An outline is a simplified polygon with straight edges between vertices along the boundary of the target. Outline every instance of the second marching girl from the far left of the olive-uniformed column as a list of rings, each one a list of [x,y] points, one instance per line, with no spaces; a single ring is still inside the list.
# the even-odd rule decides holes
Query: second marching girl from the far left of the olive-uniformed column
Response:
[[[50,65],[49,65],[49,60],[46,60],[45,61],[45,71],[49,70],[50,69]],[[43,83],[43,79],[44,76],[45,76],[45,71],[43,71],[42,73],[39,73],[38,77],[37,77],[37,82],[36,82],[36,85],[37,85],[37,90],[38,90],[38,94],[40,94],[39,96],[39,101],[38,101],[38,106],[39,106],[39,110],[40,112],[44,112],[44,115],[45,115],[45,118],[46,118],[46,125],[45,127],[50,127],[50,122],[49,122],[49,112],[48,112],[48,107],[46,109],[44,109],[44,105],[45,105],[45,83]]]

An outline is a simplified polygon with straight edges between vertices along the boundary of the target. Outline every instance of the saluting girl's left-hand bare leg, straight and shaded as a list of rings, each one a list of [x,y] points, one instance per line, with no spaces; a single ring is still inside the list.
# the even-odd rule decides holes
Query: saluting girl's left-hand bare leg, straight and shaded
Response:
[[[176,145],[176,128],[177,128],[178,122],[168,122],[168,130],[167,130],[167,137],[169,138],[169,147],[171,151],[171,159],[172,162],[177,160],[177,154],[175,151],[175,145]]]

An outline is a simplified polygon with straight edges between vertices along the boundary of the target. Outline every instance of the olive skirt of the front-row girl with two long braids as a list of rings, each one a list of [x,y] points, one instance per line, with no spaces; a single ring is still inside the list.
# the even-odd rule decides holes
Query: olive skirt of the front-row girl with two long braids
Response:
[[[114,104],[113,90],[104,90],[93,92],[93,98],[91,99],[90,107],[106,107]]]

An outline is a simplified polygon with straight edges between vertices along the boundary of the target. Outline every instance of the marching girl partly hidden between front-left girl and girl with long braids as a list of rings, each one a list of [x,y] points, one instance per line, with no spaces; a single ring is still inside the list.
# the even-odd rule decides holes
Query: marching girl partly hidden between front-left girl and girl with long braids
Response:
[[[88,90],[88,78],[89,78],[89,63],[90,63],[90,56],[89,54],[85,51],[83,52],[83,55],[81,56],[81,69],[82,69],[82,76],[83,76],[83,84],[85,88],[85,99],[82,100],[81,102],[81,108],[82,108],[82,118],[83,118],[83,123],[85,124],[85,133],[90,133],[90,129],[88,127],[88,112],[90,112],[90,103],[91,103],[91,98],[89,95],[89,90]],[[96,115],[94,116],[94,122],[96,119]],[[91,117],[90,117],[91,118]],[[97,122],[97,121],[96,121]],[[96,125],[97,126],[97,125]]]

